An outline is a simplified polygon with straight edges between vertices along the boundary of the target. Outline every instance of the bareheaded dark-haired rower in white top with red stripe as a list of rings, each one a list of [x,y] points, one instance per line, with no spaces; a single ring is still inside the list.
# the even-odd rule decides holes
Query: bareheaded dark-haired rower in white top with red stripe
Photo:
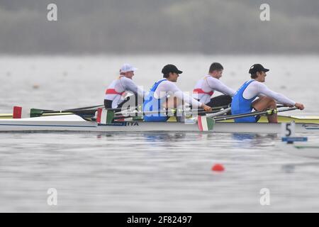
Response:
[[[220,81],[223,70],[223,65],[213,62],[209,67],[208,74],[196,83],[193,98],[211,107],[228,106],[232,102],[235,91]],[[215,91],[221,92],[223,95],[211,98]]]

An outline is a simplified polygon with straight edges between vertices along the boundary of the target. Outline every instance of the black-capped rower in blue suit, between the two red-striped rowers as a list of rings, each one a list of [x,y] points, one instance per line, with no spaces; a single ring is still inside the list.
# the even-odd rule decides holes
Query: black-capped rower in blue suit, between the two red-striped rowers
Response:
[[[205,111],[211,111],[210,106],[206,106],[201,102],[193,99],[181,92],[176,86],[177,78],[182,71],[178,70],[175,65],[165,65],[162,69],[164,79],[159,79],[150,89],[150,92],[145,97],[143,104],[144,111],[155,111],[156,113],[145,114],[144,121],[167,121],[169,118],[164,113],[163,109],[176,108],[185,101],[194,107],[201,107]]]

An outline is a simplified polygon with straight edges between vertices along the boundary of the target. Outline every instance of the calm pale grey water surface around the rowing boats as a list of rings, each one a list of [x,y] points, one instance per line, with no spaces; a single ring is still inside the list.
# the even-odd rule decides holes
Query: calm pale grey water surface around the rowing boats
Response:
[[[305,62],[303,71],[298,62]],[[162,65],[191,91],[213,61],[237,89],[247,68],[272,71],[269,88],[318,115],[316,56],[0,57],[1,113],[21,105],[64,109],[100,104],[118,67],[131,62],[147,87]],[[318,143],[318,133],[308,140]],[[281,150],[279,135],[231,133],[0,133],[0,211],[220,212],[319,211],[319,159]],[[224,172],[211,167],[221,163]],[[57,189],[57,206],[47,189]],[[270,191],[262,206],[260,189]]]

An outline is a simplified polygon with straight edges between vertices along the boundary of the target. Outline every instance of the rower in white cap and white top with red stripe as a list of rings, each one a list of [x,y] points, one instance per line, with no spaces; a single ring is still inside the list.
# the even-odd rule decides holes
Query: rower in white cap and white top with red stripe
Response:
[[[123,107],[123,104],[138,106],[138,100],[142,103],[144,92],[132,80],[134,72],[138,70],[130,64],[124,64],[120,69],[120,77],[113,80],[108,86],[104,97],[104,106],[106,109],[116,109]],[[133,96],[124,98],[127,92],[133,93]]]

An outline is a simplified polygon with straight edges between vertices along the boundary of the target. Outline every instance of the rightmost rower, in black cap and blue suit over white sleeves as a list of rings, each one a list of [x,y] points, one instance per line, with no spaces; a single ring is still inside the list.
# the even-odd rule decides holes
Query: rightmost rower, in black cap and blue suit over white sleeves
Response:
[[[232,114],[247,114],[254,109],[255,111],[264,111],[266,109],[276,109],[276,102],[287,106],[296,106],[298,109],[304,109],[303,104],[296,103],[288,99],[283,94],[273,92],[264,85],[267,76],[265,69],[260,64],[254,64],[250,67],[249,73],[251,80],[242,84],[242,87],[235,92],[231,104]],[[259,99],[256,99],[257,96]],[[256,99],[256,100],[254,100]],[[257,122],[260,116],[249,116],[245,118],[235,118],[235,122]],[[278,123],[277,114],[267,116],[269,123]]]

